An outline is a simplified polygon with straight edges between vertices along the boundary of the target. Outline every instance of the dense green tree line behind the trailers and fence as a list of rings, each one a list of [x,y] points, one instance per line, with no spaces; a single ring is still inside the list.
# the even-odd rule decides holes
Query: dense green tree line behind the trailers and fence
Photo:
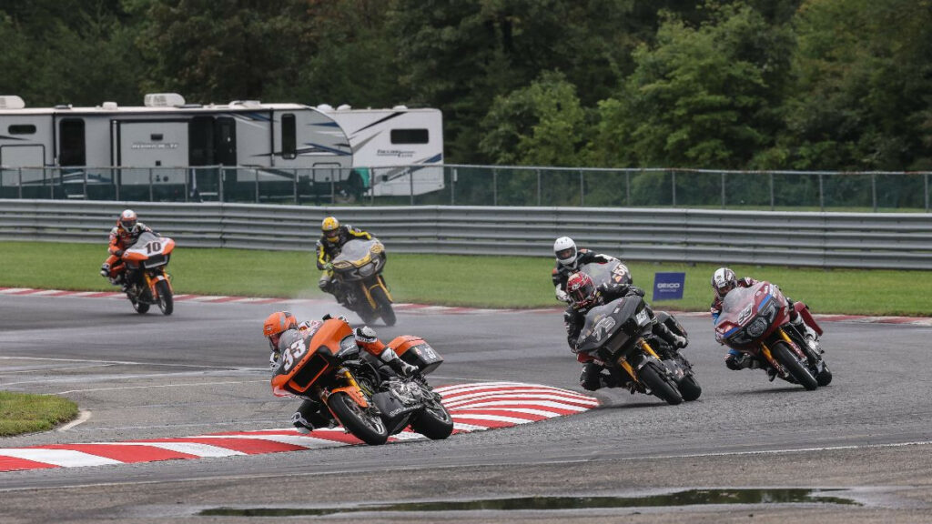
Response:
[[[0,0],[28,106],[444,111],[446,161],[932,169],[932,0]]]

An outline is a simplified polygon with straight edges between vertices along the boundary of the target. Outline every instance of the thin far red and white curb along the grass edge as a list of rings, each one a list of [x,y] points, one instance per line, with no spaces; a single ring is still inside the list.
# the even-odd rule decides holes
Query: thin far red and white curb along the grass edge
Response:
[[[61,291],[58,289],[33,289],[28,287],[0,287],[0,296],[68,296],[81,298],[119,298],[126,296],[122,293],[112,291]],[[175,295],[175,302],[202,302],[209,304],[323,304],[333,305],[332,300],[322,298],[275,298],[275,297],[258,297],[258,296],[210,296],[210,295]],[[534,310],[522,309],[484,309],[484,308],[461,308],[453,306],[431,306],[428,304],[407,304],[395,303],[392,308],[396,311],[416,314],[441,314],[441,315],[458,315],[458,314],[481,314],[481,313],[560,313],[563,308],[539,308]],[[658,308],[659,309],[659,308]],[[708,317],[708,311],[669,311],[682,317]],[[866,324],[905,324],[905,325],[925,325],[932,326],[932,317],[878,317],[870,315],[836,315],[836,314],[816,314],[813,315],[817,320],[823,322],[848,322],[848,323],[866,323]]]

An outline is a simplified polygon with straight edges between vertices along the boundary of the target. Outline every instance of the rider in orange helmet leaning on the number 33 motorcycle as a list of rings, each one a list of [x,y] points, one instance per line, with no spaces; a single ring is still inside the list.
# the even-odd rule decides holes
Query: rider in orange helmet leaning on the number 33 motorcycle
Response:
[[[325,314],[322,320],[335,317]],[[339,315],[336,319],[346,323],[346,317]],[[268,356],[272,372],[279,366],[281,352],[290,347],[296,340],[313,334],[322,324],[321,321],[305,321],[298,324],[297,318],[289,311],[275,311],[268,315],[262,324],[262,334],[268,340],[271,354]],[[394,379],[398,375],[410,377],[418,372],[418,366],[410,365],[402,360],[397,353],[378,339],[376,332],[369,326],[357,327],[353,330],[356,345],[362,350],[363,358],[374,365],[378,373],[385,379]],[[326,415],[327,407],[317,397],[302,396],[303,402],[292,415],[292,424],[298,433],[307,434],[316,428],[334,427],[336,422]]]

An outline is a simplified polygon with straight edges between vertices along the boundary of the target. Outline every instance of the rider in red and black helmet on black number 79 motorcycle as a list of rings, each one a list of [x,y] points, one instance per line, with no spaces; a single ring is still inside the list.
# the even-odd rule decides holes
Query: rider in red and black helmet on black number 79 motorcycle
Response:
[[[567,294],[570,301],[569,307],[563,313],[563,321],[567,327],[569,347],[575,349],[576,342],[585,324],[585,314],[589,310],[622,296],[644,296],[644,290],[624,283],[602,284],[596,288],[592,277],[580,271],[570,275],[567,281]],[[670,331],[664,323],[658,322],[650,307],[645,310],[651,315],[651,330],[654,336],[664,340],[674,348],[682,349],[686,347],[689,342],[685,337],[680,337]],[[611,373],[605,366],[598,364],[588,353],[577,353],[576,359],[583,364],[583,371],[580,373],[580,385],[588,391],[596,391],[603,387],[617,388],[626,383],[630,384],[629,379],[625,380],[621,374]]]

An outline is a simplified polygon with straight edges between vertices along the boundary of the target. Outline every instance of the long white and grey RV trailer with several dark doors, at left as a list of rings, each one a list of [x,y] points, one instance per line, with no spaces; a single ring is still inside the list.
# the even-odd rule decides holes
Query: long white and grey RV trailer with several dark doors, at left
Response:
[[[294,182],[295,170],[302,170],[297,172],[305,181],[329,185],[349,176],[351,159],[336,121],[298,103],[198,104],[160,93],[146,95],[144,106],[27,108],[20,97],[0,96],[3,168],[120,167],[86,169],[81,176],[112,184],[118,172],[119,184],[132,186],[149,185],[152,172],[157,184],[197,185],[191,172],[199,170],[185,168],[246,166],[255,169],[225,170],[225,184],[231,176],[234,184],[255,183],[256,177]],[[27,185],[46,171],[19,170],[18,176]]]

